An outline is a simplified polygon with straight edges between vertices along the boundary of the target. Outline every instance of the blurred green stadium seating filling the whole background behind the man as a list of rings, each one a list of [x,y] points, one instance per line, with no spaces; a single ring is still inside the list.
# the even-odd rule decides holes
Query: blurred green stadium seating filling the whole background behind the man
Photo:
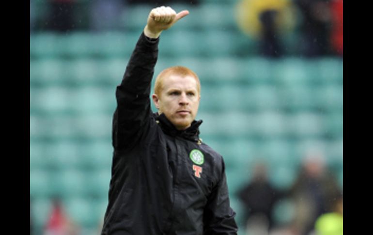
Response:
[[[264,57],[258,38],[238,27],[237,2],[170,4],[190,15],[162,33],[155,74],[180,64],[199,75],[201,137],[225,159],[242,235],[236,191],[258,159],[268,163],[271,182],[286,189],[305,154],[321,152],[342,190],[343,61],[337,55],[300,56],[298,24],[279,34],[284,56]],[[47,3],[30,4],[33,231],[42,234],[50,200],[58,196],[81,234],[98,234],[108,202],[115,87],[153,6],[127,4],[110,29],[94,30],[88,27],[89,1],[78,0],[77,28],[61,33],[44,29]],[[292,207],[281,204],[276,215],[281,222],[291,217]]]

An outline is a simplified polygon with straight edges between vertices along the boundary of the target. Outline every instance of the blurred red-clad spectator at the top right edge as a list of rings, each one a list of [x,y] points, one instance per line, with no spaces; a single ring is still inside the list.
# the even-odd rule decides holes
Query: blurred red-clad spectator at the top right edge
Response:
[[[331,2],[331,44],[335,53],[343,56],[343,0]]]

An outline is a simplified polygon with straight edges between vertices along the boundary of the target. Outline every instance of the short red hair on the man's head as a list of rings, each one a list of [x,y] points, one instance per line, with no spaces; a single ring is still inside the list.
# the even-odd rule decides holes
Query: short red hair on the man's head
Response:
[[[184,66],[172,66],[172,67],[164,69],[155,78],[154,93],[156,95],[159,96],[161,94],[161,91],[163,89],[163,79],[168,78],[171,75],[178,75],[178,76],[182,76],[182,77],[191,76],[191,77],[195,78],[196,81],[197,81],[198,94],[201,94],[200,78],[198,78],[196,73],[194,73],[191,69],[189,69],[187,67],[184,67]]]

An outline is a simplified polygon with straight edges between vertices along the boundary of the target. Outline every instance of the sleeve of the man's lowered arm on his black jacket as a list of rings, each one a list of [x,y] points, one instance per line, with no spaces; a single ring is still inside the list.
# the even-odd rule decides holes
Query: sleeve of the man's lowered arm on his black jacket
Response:
[[[230,206],[224,162],[217,186],[213,188],[203,213],[204,235],[237,235],[236,213]]]

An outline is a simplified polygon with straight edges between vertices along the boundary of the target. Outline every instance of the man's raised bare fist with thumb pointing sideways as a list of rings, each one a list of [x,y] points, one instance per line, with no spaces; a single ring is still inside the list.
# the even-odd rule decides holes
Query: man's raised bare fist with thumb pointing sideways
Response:
[[[148,16],[144,34],[150,38],[158,38],[162,31],[169,29],[179,19],[189,15],[189,11],[184,10],[176,13],[171,7],[157,7],[152,9]]]

